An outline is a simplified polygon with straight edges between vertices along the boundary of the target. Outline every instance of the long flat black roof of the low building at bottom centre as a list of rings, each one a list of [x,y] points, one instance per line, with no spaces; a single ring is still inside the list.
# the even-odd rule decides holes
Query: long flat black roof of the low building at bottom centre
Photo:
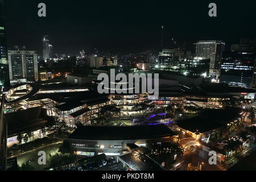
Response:
[[[91,140],[125,140],[171,137],[176,135],[165,125],[141,126],[81,126],[68,138]]]

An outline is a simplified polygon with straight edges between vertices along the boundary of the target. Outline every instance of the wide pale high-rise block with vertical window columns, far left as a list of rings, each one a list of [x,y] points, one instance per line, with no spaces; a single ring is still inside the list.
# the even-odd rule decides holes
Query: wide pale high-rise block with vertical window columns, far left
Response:
[[[8,51],[11,85],[15,82],[38,81],[38,55],[26,47]]]

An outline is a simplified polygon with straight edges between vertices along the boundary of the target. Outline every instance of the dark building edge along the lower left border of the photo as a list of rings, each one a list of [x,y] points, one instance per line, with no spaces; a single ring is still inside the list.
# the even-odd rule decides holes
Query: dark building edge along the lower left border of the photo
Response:
[[[1,93],[1,91],[0,91]],[[3,110],[5,104],[5,94],[2,95],[0,102],[0,171],[6,171],[7,155],[7,123],[3,120]]]

